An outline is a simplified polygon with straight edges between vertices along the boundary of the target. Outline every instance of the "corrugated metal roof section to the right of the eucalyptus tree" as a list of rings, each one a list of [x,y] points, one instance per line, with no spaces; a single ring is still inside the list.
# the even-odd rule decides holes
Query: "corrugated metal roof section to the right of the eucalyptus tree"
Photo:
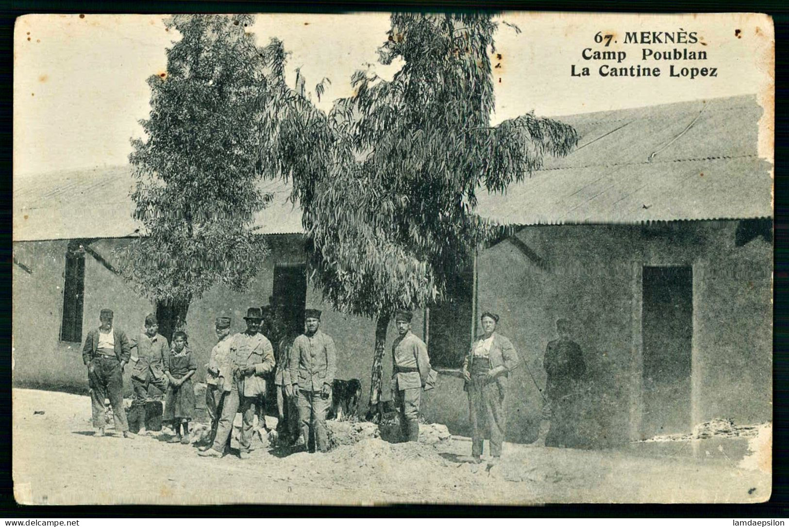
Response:
[[[580,135],[477,212],[503,224],[772,217],[770,163],[757,155],[753,96],[559,117]]]

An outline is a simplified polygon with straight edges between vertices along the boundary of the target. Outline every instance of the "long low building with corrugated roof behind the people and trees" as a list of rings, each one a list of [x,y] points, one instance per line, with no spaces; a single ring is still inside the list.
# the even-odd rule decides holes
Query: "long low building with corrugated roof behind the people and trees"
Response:
[[[509,440],[537,434],[541,361],[559,317],[573,322],[587,366],[577,427],[590,446],[689,432],[713,417],[771,420],[772,177],[757,152],[761,114],[742,96],[559,118],[578,130],[578,148],[507,194],[480,197],[478,212],[512,235],[478,253],[452,284],[454,301],[414,320],[441,374],[425,417],[469,433],[459,366],[479,314],[493,311],[522,359]],[[136,236],[130,184],[126,167],[14,182],[15,385],[84,390],[81,340],[99,309],[113,308],[129,333],[153,310],[114,272],[114,249]],[[361,379],[366,396],[375,324],[322,305],[304,272],[301,212],[286,185],[269,190],[275,204],[258,224],[271,258],[247,293],[217,286],[193,302],[190,344],[204,364],[214,317],[232,316],[241,331],[245,309],[270,296],[322,307],[338,378]]]

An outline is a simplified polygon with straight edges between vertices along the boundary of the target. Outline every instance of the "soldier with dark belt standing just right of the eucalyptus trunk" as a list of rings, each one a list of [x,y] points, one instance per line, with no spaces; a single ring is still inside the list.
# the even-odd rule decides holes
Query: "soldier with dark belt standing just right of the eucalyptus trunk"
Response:
[[[409,311],[398,311],[394,316],[399,336],[392,344],[391,391],[400,410],[403,441],[419,439],[419,403],[430,374],[428,346],[411,333],[412,318]]]

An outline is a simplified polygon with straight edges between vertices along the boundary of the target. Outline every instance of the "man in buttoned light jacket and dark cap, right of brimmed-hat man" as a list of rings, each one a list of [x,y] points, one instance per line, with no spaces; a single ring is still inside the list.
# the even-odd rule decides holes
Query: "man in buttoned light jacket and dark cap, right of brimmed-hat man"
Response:
[[[291,385],[287,396],[295,394],[297,397],[305,447],[310,450],[309,438],[314,433],[316,449],[326,452],[329,449],[326,413],[337,372],[337,352],[335,342],[319,329],[319,310],[305,310],[305,328],[290,348]]]

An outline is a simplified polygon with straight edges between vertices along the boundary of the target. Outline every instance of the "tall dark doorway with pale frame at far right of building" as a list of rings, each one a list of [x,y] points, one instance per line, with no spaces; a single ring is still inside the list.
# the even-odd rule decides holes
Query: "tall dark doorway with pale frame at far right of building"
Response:
[[[644,267],[642,301],[641,434],[690,432],[692,268]]]

